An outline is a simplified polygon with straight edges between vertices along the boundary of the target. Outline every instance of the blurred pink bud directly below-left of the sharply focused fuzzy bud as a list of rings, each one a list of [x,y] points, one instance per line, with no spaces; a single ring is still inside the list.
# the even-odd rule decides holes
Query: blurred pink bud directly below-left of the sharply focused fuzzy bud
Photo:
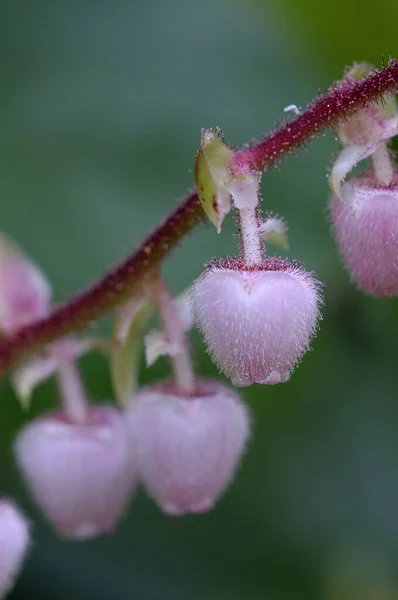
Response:
[[[198,382],[188,397],[161,383],[134,398],[127,419],[141,480],[160,508],[175,516],[210,510],[249,435],[239,396],[215,381]]]

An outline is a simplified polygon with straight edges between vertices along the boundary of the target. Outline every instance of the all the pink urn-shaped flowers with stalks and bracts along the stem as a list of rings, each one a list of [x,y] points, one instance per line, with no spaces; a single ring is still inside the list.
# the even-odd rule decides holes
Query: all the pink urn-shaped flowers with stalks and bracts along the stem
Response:
[[[356,65],[345,83],[369,67]],[[352,279],[379,297],[398,294],[398,175],[388,142],[398,133],[391,99],[338,128],[343,149],[330,174],[330,212]],[[24,426],[14,453],[32,498],[56,532],[85,540],[114,531],[142,484],[168,515],[213,508],[233,480],[250,435],[238,392],[199,378],[187,332],[195,323],[213,361],[235,387],[287,382],[309,348],[320,319],[320,284],[296,261],[269,257],[286,245],[282,219],[261,215],[261,172],[239,171],[218,131],[202,132],[195,165],[199,199],[221,231],[235,210],[238,256],[217,259],[172,298],[158,272],[118,310],[113,339],[64,337],[47,344],[12,373],[22,405],[44,379],[56,378],[60,406]],[[360,161],[369,170],[345,180]],[[149,248],[149,252],[151,249]],[[145,332],[157,310],[160,328]],[[51,287],[40,269],[0,237],[0,333],[5,338],[51,311]],[[144,335],[146,333],[146,335]],[[137,383],[140,345],[152,364],[166,355],[170,379]],[[76,361],[103,349],[110,356],[117,404],[91,402]],[[0,598],[11,588],[29,547],[30,524],[10,500],[0,500]]]

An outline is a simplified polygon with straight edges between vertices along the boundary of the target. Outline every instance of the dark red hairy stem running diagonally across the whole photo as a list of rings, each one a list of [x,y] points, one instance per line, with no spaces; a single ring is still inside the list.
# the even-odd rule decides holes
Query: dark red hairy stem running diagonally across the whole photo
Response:
[[[310,104],[305,113],[269,134],[257,146],[235,153],[235,172],[262,170],[293,148],[312,139],[326,127],[350,116],[384,94],[398,90],[398,62],[354,83],[344,83]],[[139,290],[162,260],[204,216],[193,192],[149,235],[143,244],[113,271],[86,291],[37,323],[0,341],[0,375],[29,353],[59,337],[81,329],[116,308]]]

